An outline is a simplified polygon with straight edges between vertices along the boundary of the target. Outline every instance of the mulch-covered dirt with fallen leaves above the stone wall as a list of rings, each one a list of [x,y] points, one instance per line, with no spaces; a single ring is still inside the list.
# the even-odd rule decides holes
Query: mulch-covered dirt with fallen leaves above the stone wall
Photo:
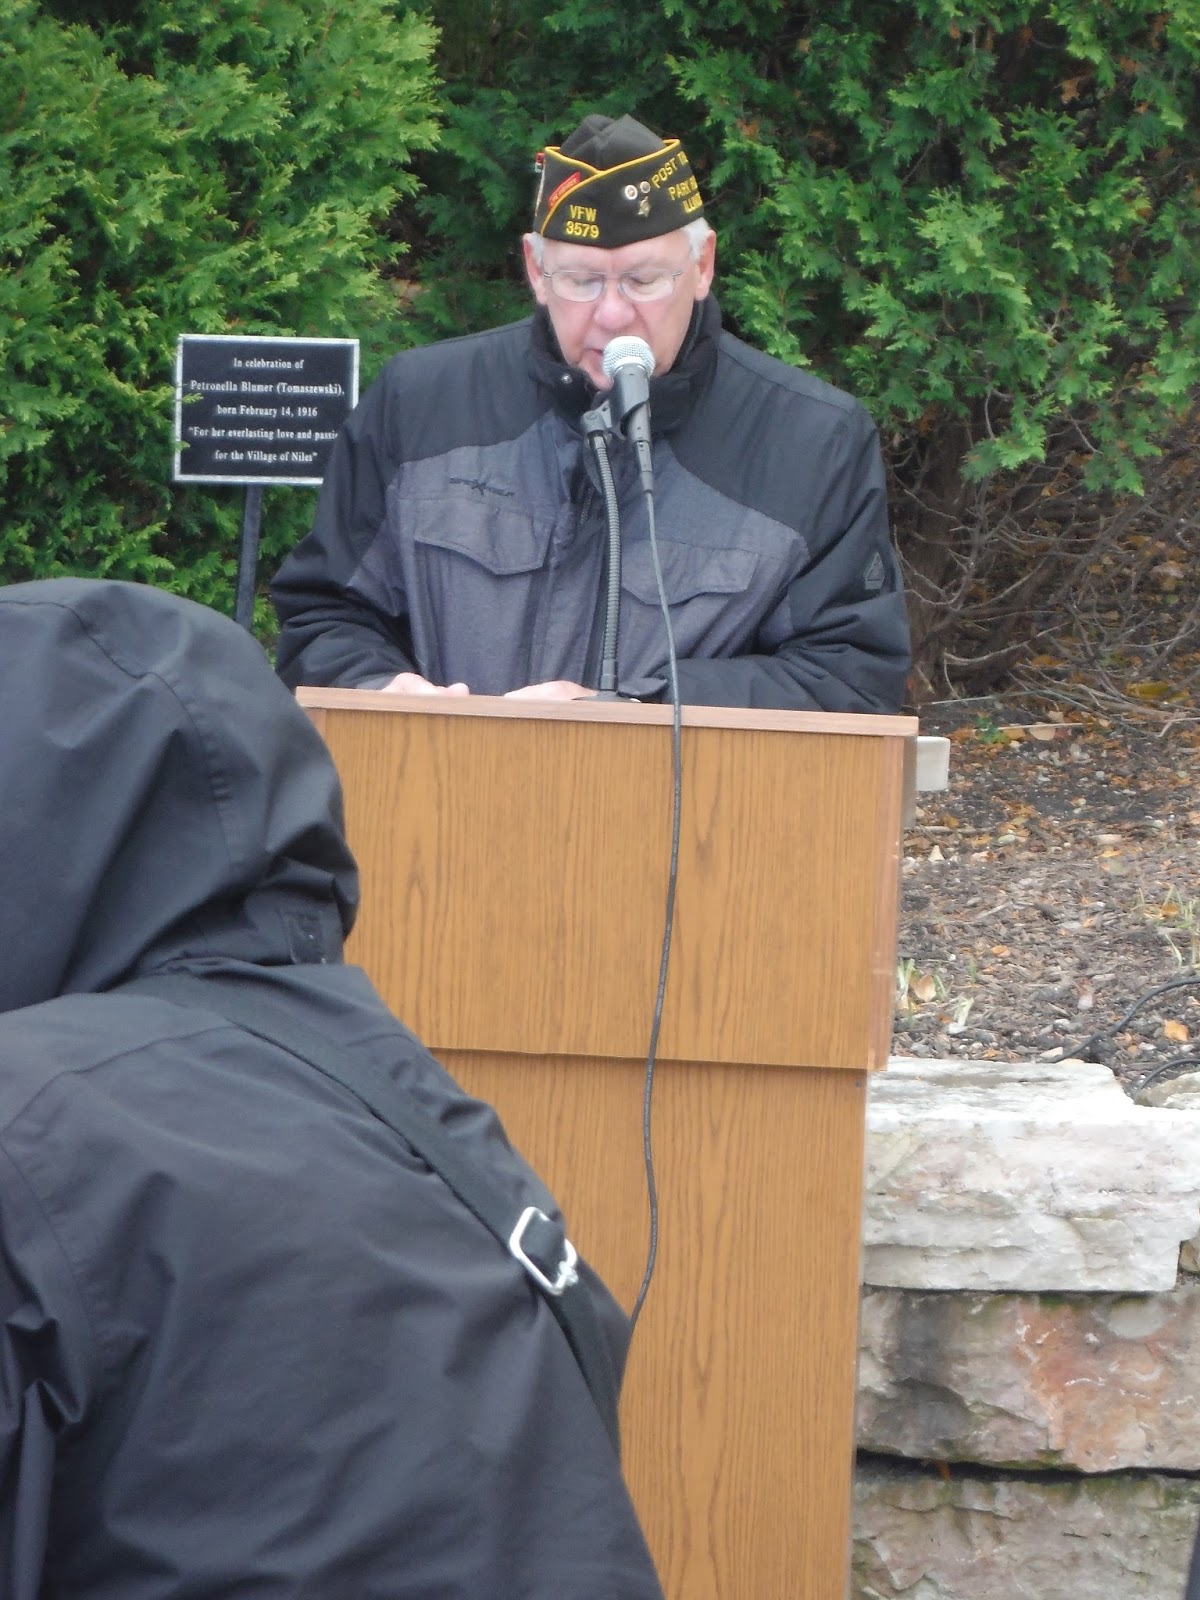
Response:
[[[893,1053],[1200,1066],[1200,720],[989,698],[922,733],[950,786],[904,838]]]

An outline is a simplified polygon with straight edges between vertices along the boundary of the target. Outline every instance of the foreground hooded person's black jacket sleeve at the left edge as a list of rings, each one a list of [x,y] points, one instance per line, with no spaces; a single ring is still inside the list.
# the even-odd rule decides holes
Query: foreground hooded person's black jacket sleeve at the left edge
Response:
[[[0,1150],[0,1594],[38,1600],[58,1435],[83,1410],[91,1349],[78,1294]]]

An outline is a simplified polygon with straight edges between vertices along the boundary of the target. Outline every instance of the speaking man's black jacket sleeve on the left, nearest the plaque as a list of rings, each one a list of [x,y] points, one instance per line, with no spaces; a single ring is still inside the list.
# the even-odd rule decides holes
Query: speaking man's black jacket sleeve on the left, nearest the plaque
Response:
[[[275,667],[301,683],[379,688],[413,672],[408,605],[392,586],[381,611],[355,587],[386,517],[390,370],[363,395],[330,454],[312,531],[285,558],[270,597],[280,621]]]

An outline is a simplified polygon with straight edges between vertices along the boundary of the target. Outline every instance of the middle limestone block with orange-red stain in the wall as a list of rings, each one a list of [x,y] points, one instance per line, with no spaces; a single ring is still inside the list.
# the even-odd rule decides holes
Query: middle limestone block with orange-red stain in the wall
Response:
[[[867,1290],[861,1450],[1200,1472],[1200,1283],[1173,1294]]]

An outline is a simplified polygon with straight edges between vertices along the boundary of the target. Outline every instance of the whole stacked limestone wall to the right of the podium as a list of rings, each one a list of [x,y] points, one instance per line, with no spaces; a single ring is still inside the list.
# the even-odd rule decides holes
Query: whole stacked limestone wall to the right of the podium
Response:
[[[1182,1600],[1200,1101],[1106,1067],[872,1083],[853,1600]]]

